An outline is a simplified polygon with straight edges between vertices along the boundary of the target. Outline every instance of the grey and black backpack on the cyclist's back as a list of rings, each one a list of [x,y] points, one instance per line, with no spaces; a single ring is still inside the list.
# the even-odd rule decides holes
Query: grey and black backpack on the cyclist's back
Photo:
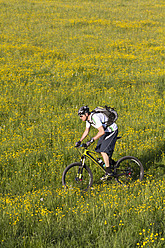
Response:
[[[91,114],[95,114],[95,113],[102,113],[104,115],[106,115],[108,117],[108,120],[106,121],[106,126],[110,126],[112,125],[118,118],[118,114],[116,112],[116,110],[114,108],[111,107],[107,107],[105,105],[105,107],[96,107]]]

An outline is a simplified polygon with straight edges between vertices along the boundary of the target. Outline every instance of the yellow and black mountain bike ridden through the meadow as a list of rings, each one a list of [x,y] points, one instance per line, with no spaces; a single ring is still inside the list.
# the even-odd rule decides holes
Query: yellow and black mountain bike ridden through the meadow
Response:
[[[118,137],[119,139],[120,137]],[[84,148],[81,153],[80,162],[75,162],[68,165],[62,175],[62,184],[66,188],[79,188],[87,191],[93,184],[93,174],[89,166],[86,165],[86,158],[90,159],[104,173],[105,168],[103,161],[100,163],[98,153],[88,150],[86,144],[82,144],[80,148]],[[113,176],[117,183],[121,185],[129,185],[131,182],[141,181],[144,176],[144,168],[138,158],[133,156],[125,156],[120,158],[111,167]],[[112,178],[111,177],[111,178]]]

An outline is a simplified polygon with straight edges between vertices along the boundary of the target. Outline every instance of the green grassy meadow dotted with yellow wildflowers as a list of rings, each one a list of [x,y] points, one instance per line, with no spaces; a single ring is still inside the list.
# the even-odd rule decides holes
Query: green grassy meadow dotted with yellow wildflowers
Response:
[[[0,0],[0,247],[165,247],[162,0]],[[115,107],[145,176],[66,191],[82,105]],[[93,137],[96,130],[91,130]],[[94,149],[94,146],[91,146]]]

